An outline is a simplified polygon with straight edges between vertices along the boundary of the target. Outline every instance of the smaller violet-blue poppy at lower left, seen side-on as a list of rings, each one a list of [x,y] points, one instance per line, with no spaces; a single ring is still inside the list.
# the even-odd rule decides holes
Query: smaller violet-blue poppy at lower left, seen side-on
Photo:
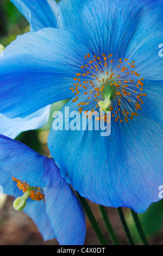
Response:
[[[54,160],[3,135],[0,152],[0,185],[17,198],[14,208],[24,209],[43,239],[57,237],[61,245],[83,245],[84,211]]]

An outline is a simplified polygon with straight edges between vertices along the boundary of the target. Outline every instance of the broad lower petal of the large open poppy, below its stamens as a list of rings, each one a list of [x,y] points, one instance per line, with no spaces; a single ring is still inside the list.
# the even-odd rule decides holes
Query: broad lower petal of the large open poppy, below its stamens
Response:
[[[160,200],[162,126],[141,114],[128,123],[112,121],[108,137],[100,130],[51,129],[48,148],[61,176],[95,203],[143,212]]]

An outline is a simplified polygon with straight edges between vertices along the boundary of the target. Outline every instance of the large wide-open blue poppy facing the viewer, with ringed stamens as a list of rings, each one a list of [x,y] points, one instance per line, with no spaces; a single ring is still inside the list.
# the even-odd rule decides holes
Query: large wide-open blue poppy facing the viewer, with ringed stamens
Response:
[[[160,200],[162,7],[160,0],[62,0],[59,29],[19,36],[4,51],[0,108],[7,117],[62,99],[71,99],[70,112],[111,111],[108,137],[51,129],[48,138],[61,176],[95,203],[143,212]]]

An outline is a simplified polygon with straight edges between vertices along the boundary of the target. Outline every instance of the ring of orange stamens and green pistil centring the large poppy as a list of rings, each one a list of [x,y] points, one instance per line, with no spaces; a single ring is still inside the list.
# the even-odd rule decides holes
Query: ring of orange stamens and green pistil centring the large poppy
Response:
[[[112,54],[99,57],[88,53],[81,70],[70,88],[76,95],[72,101],[80,99],[77,106],[79,113],[111,111],[112,118],[121,123],[123,119],[128,123],[128,117],[133,119],[138,115],[137,111],[143,104],[142,97],[147,94],[142,93],[143,78],[136,72],[134,60],[128,62],[128,59],[120,58],[115,62]]]

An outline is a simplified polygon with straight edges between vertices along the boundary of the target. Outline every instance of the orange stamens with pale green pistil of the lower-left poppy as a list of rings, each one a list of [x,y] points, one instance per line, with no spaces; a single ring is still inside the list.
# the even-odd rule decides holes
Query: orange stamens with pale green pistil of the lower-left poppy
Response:
[[[45,201],[43,188],[31,187],[26,181],[17,180],[14,177],[12,177],[12,180],[17,183],[17,187],[23,192],[23,196],[16,198],[13,203],[14,209],[16,211],[22,211],[25,208],[28,198],[36,201],[43,199]]]

